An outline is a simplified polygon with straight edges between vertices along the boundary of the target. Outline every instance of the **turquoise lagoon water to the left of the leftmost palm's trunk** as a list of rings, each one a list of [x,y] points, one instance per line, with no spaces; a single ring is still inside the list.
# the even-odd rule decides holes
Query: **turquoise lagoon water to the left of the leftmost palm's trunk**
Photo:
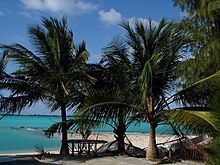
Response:
[[[6,116],[0,120],[0,154],[34,152],[35,146],[45,150],[59,149],[60,138],[47,138],[42,130],[60,117]]]

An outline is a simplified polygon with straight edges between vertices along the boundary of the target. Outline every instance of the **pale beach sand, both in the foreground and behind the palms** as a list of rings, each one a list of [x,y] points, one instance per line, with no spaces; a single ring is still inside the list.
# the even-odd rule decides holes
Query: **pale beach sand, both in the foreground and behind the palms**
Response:
[[[60,136],[56,134],[55,136]],[[78,139],[81,138],[79,133],[69,133],[69,139]],[[144,133],[128,133],[127,137],[129,141],[139,148],[146,148],[148,144],[149,134]],[[89,136],[89,139],[99,139],[106,140],[108,142],[115,140],[113,133],[92,133]],[[157,143],[165,143],[167,141],[175,139],[175,136],[172,135],[158,135]],[[125,140],[128,143],[128,140]],[[59,150],[47,150],[46,152],[50,153],[45,156],[44,159],[40,160],[36,156],[39,154],[37,152],[29,153],[13,153],[13,154],[0,154],[0,164],[14,164],[14,165],[25,165],[25,164],[63,164],[63,165],[150,165],[157,164],[158,162],[147,161],[145,158],[135,158],[129,156],[104,156],[104,157],[77,157],[71,155],[59,155]],[[1,162],[2,161],[2,162]],[[5,162],[4,162],[5,161]],[[181,161],[175,162],[172,164],[187,165],[187,164],[198,164],[204,165],[203,162],[193,162],[193,161]]]

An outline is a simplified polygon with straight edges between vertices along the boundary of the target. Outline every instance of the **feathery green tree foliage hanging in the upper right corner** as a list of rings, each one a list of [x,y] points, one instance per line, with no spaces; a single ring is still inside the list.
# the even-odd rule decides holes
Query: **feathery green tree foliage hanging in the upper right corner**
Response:
[[[190,33],[189,45],[192,58],[183,63],[182,84],[191,84],[220,70],[220,1],[219,0],[173,0],[185,13],[180,24]]]

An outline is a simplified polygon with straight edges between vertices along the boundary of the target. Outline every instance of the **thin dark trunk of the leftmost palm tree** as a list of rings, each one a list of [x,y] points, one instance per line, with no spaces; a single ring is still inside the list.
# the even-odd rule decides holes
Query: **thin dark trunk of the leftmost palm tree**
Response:
[[[61,104],[61,117],[62,117],[62,141],[60,154],[69,154],[69,147],[67,143],[67,123],[66,123],[66,106]]]

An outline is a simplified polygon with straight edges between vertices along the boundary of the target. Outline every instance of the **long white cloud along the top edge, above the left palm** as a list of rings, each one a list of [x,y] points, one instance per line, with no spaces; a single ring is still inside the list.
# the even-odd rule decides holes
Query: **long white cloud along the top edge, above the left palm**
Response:
[[[20,0],[28,10],[81,15],[97,10],[97,5],[82,0]],[[32,11],[33,12],[33,11]]]

